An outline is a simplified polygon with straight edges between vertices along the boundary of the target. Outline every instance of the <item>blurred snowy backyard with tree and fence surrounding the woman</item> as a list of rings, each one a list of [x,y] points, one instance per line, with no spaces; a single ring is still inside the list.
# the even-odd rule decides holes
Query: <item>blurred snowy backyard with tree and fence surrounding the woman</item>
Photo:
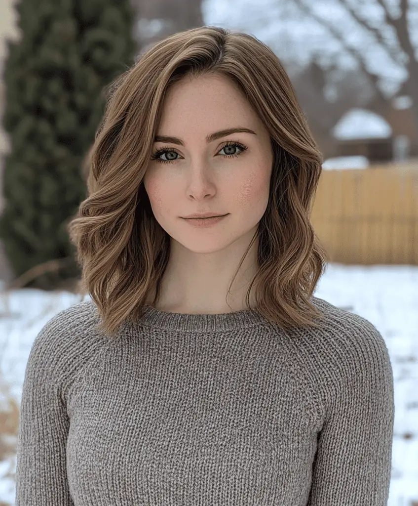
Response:
[[[65,224],[103,90],[151,44],[202,25],[268,44],[324,163],[315,292],[371,321],[395,381],[389,506],[418,505],[418,0],[0,0],[0,506],[14,503],[33,340],[79,302]],[[64,4],[64,3],[63,3]]]

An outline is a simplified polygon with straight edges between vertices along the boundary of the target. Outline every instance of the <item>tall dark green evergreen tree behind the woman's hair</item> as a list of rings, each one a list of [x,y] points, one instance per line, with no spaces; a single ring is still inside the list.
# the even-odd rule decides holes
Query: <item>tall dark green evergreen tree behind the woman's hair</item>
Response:
[[[104,88],[134,61],[134,17],[129,0],[22,0],[16,9],[22,38],[8,42],[4,70],[11,150],[0,237],[17,276],[71,259],[26,284],[51,288],[79,276],[65,225],[86,197],[82,163]]]

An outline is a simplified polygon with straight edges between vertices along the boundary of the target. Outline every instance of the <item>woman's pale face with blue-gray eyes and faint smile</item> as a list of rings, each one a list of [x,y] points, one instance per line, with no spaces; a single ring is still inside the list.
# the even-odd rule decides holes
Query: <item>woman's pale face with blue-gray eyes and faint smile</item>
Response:
[[[252,133],[207,139],[235,128]],[[175,83],[155,141],[144,186],[155,219],[171,238],[197,253],[244,236],[249,242],[267,207],[273,151],[268,131],[233,81],[206,75]],[[228,215],[207,228],[183,219],[207,212]]]

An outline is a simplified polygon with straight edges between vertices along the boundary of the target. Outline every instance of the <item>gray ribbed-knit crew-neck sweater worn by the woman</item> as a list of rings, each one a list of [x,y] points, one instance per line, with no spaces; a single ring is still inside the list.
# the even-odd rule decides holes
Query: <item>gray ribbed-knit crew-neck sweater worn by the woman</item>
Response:
[[[81,302],[36,336],[16,506],[386,506],[393,372],[368,320],[320,329],[146,306],[117,340]]]

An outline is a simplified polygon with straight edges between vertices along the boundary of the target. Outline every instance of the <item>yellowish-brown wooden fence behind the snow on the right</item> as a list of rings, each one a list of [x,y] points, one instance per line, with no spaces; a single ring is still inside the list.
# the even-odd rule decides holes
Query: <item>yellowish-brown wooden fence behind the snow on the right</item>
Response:
[[[322,171],[311,223],[331,262],[418,265],[418,163]]]

